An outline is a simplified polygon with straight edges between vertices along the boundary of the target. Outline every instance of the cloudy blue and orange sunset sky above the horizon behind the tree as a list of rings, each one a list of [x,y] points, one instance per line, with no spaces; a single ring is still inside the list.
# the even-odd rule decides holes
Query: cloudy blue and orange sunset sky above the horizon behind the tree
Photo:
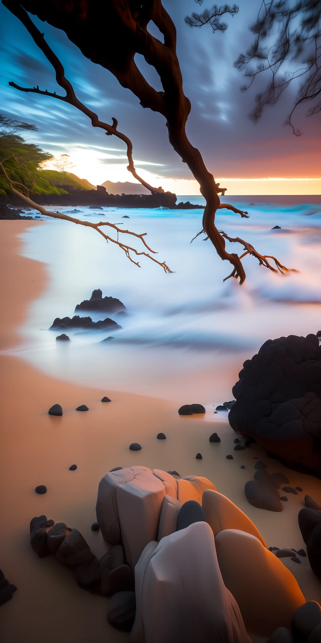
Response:
[[[297,86],[290,86],[277,105],[267,107],[256,125],[248,113],[268,78],[257,78],[246,93],[239,90],[244,78],[233,62],[252,42],[248,26],[256,20],[261,0],[241,0],[238,15],[227,17],[225,33],[213,33],[210,26],[192,29],[184,23],[186,14],[200,11],[195,0],[163,0],[163,5],[177,28],[184,93],[192,106],[187,136],[215,180],[231,195],[321,194],[320,114],[308,117],[306,107],[297,112],[295,126],[303,132],[297,138],[284,125]],[[206,6],[211,1],[204,0],[202,9]],[[109,71],[85,59],[64,32],[31,18],[64,65],[78,98],[101,120],[112,123],[112,116],[117,118],[119,131],[132,140],[137,172],[152,185],[176,194],[199,194],[198,183],[169,144],[164,118],[143,109]],[[153,29],[150,26],[151,33]],[[134,181],[126,170],[121,141],[105,138],[105,132],[92,128],[89,119],[71,105],[8,86],[13,80],[63,94],[42,51],[1,4],[0,56],[0,113],[37,125],[39,130],[31,132],[28,140],[55,157],[69,154],[71,172],[94,185],[106,180]],[[157,73],[143,57],[136,55],[135,60],[148,82],[162,89]]]

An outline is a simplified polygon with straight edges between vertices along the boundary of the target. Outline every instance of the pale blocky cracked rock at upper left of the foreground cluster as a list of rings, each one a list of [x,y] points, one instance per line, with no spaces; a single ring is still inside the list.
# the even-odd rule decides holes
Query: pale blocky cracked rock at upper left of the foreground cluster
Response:
[[[147,467],[107,473],[100,481],[96,516],[101,534],[108,543],[121,541],[132,570],[146,544],[157,538],[165,494],[165,485]]]

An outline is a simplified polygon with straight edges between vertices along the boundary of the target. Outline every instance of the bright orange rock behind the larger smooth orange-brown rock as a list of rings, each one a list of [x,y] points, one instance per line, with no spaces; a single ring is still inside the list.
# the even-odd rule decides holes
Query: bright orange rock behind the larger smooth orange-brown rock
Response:
[[[202,507],[215,537],[223,529],[239,529],[252,534],[266,547],[264,539],[252,520],[223,494],[207,489],[203,494]]]

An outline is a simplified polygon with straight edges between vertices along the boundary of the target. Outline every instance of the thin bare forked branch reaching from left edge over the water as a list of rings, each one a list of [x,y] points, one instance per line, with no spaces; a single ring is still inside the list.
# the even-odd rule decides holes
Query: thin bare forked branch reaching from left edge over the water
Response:
[[[99,232],[100,235],[104,239],[106,239],[107,243],[108,243],[108,241],[110,241],[110,242],[116,244],[116,246],[119,246],[119,248],[121,248],[125,252],[126,257],[133,264],[135,264],[135,266],[138,266],[139,268],[141,267],[141,266],[139,266],[139,263],[134,261],[134,259],[132,257],[130,257],[130,251],[134,252],[135,255],[137,255],[137,257],[139,255],[144,255],[145,257],[148,257],[149,259],[152,259],[152,261],[154,261],[155,264],[158,264],[159,266],[161,266],[166,273],[172,273],[173,272],[172,270],[169,269],[169,267],[166,265],[166,263],[164,261],[163,262],[157,261],[157,259],[155,259],[154,257],[151,257],[148,253],[146,253],[144,251],[139,252],[135,248],[132,248],[131,246],[123,244],[121,241],[118,240],[119,232],[121,232],[123,234],[127,234],[127,235],[132,235],[133,237],[138,237],[138,239],[141,239],[141,241],[143,242],[145,248],[147,248],[150,252],[152,252],[153,255],[157,255],[157,252],[152,250],[152,248],[150,248],[146,244],[146,241],[143,239],[143,237],[146,236],[146,232],[143,232],[142,234],[139,235],[139,234],[137,234],[135,232],[131,232],[130,230],[121,230],[121,228],[118,228],[118,226],[116,226],[114,223],[110,223],[108,221],[100,221],[99,223],[92,223],[91,221],[80,221],[80,219],[74,219],[74,217],[69,217],[67,214],[63,214],[62,212],[49,212],[49,210],[46,210],[46,208],[42,207],[38,203],[35,203],[35,201],[32,201],[29,196],[26,196],[26,194],[22,194],[22,192],[19,192],[19,190],[17,190],[14,187],[14,185],[19,185],[19,186],[21,186],[21,188],[23,187],[25,191],[26,190],[28,191],[28,188],[26,188],[26,186],[24,186],[22,183],[18,184],[17,181],[12,181],[12,179],[10,179],[10,176],[8,176],[8,174],[6,173],[6,170],[3,167],[3,163],[1,163],[1,162],[0,162],[0,170],[3,172],[4,176],[6,177],[6,180],[8,181],[8,183],[10,185],[11,192],[13,194],[19,196],[20,199],[22,199],[22,201],[24,201],[25,203],[30,205],[31,208],[34,208],[35,210],[38,210],[39,212],[41,212],[41,214],[46,215],[47,217],[52,217],[53,219],[62,219],[63,221],[70,221],[71,223],[76,223],[76,224],[79,224],[80,226],[85,226],[87,228],[94,228],[94,230]],[[100,226],[109,226],[110,228],[114,228],[114,230],[117,231],[117,241],[116,241],[116,239],[112,239],[112,237],[109,237],[108,235],[105,235],[105,233],[103,233],[103,231],[100,230]]]

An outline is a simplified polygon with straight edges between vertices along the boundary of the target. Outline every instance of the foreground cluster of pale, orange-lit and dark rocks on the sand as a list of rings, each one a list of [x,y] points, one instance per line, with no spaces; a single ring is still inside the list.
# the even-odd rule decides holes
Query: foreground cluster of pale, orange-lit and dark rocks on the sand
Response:
[[[92,530],[110,545],[100,561],[77,529],[46,516],[31,520],[31,545],[69,566],[81,587],[111,596],[107,619],[131,629],[132,643],[152,643],[153,632],[250,643],[290,631],[305,604],[252,521],[207,478],[115,467],[100,482],[96,517]]]

